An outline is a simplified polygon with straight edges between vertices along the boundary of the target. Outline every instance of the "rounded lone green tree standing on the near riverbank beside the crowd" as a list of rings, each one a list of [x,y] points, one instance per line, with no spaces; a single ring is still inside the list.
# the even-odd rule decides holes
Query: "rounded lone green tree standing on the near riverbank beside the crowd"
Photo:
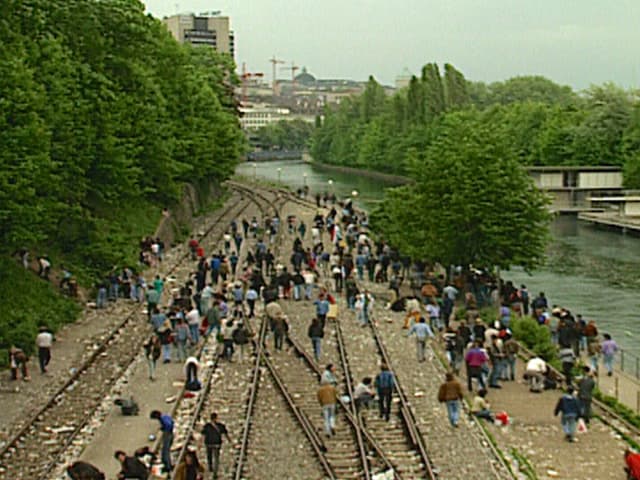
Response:
[[[508,142],[474,111],[447,115],[414,184],[391,189],[371,215],[375,229],[416,258],[444,265],[540,265],[548,235],[546,197]]]

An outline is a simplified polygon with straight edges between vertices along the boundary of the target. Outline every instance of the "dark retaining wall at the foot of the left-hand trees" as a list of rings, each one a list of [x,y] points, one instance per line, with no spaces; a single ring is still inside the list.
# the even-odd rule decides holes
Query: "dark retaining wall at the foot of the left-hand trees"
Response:
[[[169,208],[169,215],[160,218],[154,237],[162,239],[167,247],[183,240],[181,232],[191,231],[195,217],[220,198],[222,191],[220,184],[214,181],[185,185],[182,200]]]

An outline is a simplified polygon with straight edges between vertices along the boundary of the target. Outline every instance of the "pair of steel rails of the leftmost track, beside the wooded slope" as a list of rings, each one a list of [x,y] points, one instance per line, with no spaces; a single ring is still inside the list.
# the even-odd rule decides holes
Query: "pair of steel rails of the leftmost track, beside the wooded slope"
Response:
[[[216,215],[216,217],[218,219],[223,218],[234,207],[235,205],[231,204],[223,212]],[[200,235],[199,238],[202,239],[208,236],[211,233],[211,231],[215,228],[216,224],[217,224],[217,221],[212,221],[211,226],[207,229],[206,232]],[[167,275],[171,275],[180,265],[182,265],[182,263],[188,257],[189,257],[189,253],[186,252],[184,255],[182,255],[182,257],[176,260],[173,266],[168,270]],[[80,367],[67,379],[67,381],[61,387],[56,389],[54,394],[50,396],[49,400],[40,409],[38,409],[38,411],[35,414],[33,414],[27,420],[27,422],[18,430],[18,432],[16,432],[12,436],[12,438],[2,447],[2,449],[0,449],[0,462],[2,463],[3,466],[5,466],[5,468],[7,467],[7,460],[10,460],[11,457],[13,456],[12,451],[18,448],[20,440],[29,434],[29,430],[31,430],[34,427],[34,425],[41,423],[43,421],[43,417],[46,415],[48,410],[50,410],[51,408],[53,408],[54,406],[58,405],[61,402],[61,400],[65,397],[66,392],[68,390],[69,391],[72,390],[70,387],[72,387],[74,384],[76,384],[79,381],[80,377],[94,363],[96,363],[96,361],[107,350],[107,347],[109,347],[112,343],[114,343],[118,339],[118,336],[123,332],[123,330],[130,323],[132,323],[132,321],[135,318],[137,318],[138,315],[139,315],[139,311],[136,308],[132,309],[132,311],[109,332],[109,335],[107,335],[107,337],[98,344],[98,347],[91,353],[89,358],[87,358],[80,365]],[[135,350],[137,351],[139,350],[139,348],[136,348]],[[135,358],[136,358],[136,355],[133,356],[131,361],[135,360]],[[131,361],[128,362],[127,365],[130,365]],[[126,370],[126,368],[127,367],[125,366],[124,370]],[[95,408],[97,408],[97,405]],[[68,432],[67,438],[60,444],[61,448],[57,449],[57,453],[53,454],[54,460],[50,461],[47,464],[47,466],[45,467],[44,474],[40,475],[39,478],[43,480],[48,480],[47,475],[56,466],[57,460],[59,459],[60,455],[62,454],[62,452],[64,452],[66,448],[68,448],[68,446],[72,443],[73,439],[82,430],[82,428],[84,428],[88,419],[90,419],[90,417],[95,412],[95,408],[91,408],[90,411],[82,417],[80,424],[77,425],[76,428],[74,428],[71,432]]]

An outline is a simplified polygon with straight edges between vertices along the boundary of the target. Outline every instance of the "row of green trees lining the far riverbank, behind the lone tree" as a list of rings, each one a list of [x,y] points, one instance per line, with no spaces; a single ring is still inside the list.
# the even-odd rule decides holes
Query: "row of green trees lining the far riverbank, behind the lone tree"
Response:
[[[437,140],[441,117],[472,109],[524,165],[624,165],[627,185],[640,188],[637,92],[604,84],[578,94],[538,76],[487,85],[449,64],[444,75],[425,65],[391,98],[380,89],[369,79],[363,95],[326,112],[316,160],[408,175],[411,152]]]

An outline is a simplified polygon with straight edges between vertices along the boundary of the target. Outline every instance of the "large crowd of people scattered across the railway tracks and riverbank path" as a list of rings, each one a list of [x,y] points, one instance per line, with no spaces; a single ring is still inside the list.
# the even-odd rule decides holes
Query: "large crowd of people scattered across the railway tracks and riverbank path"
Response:
[[[511,282],[501,284],[486,271],[446,271],[437,264],[411,259],[383,238],[373,238],[366,214],[356,211],[350,200],[343,204],[330,196],[324,199],[316,196],[316,200],[318,206],[326,205],[328,213],[318,210],[309,226],[294,215],[288,216],[283,226],[274,214],[262,222],[256,217],[232,221],[223,235],[222,248],[215,252],[206,252],[197,239],[191,239],[188,246],[195,268],[181,284],[159,275],[146,280],[141,269],[123,268],[113,271],[98,285],[98,308],[118,298],[146,303],[154,330],[145,343],[151,381],[156,378],[159,362],[181,362],[187,388],[199,389],[198,346],[211,335],[221,345],[223,360],[244,362],[247,348],[255,338],[247,319],[262,311],[258,304],[263,306],[269,322],[269,342],[273,342],[273,351],[277,352],[283,349],[290,322],[281,303],[312,303],[315,314],[309,319],[307,334],[314,358],[321,362],[324,330],[337,314],[338,298],[344,297],[357,322],[366,327],[373,320],[376,304],[372,284],[378,284],[376,289],[388,285],[389,308],[404,312],[399,328],[406,330],[407,338],[414,339],[416,361],[432,358],[430,342],[441,342],[446,352],[449,371],[437,398],[446,405],[452,428],[457,428],[460,422],[465,395],[459,377],[463,374],[471,394],[472,414],[488,421],[495,419],[489,392],[502,388],[502,382],[518,378],[516,364],[522,352],[513,338],[513,319],[531,315],[541,328],[549,329],[557,345],[567,388],[553,413],[561,415],[567,440],[575,440],[578,419],[588,423],[591,416],[590,401],[600,356],[607,374],[613,371],[618,346],[609,334],[601,339],[594,321],[550,306],[543,293],[529,298],[524,285],[516,288]],[[280,232],[284,227],[285,232]],[[279,233],[288,234],[292,245],[286,262],[273,249]],[[245,242],[246,255],[241,260]],[[159,239],[146,238],[141,242],[140,263],[157,266],[163,253],[164,245]],[[402,294],[407,291],[410,293]],[[490,304],[499,305],[497,317],[482,318],[482,307]],[[53,339],[44,336],[39,339],[40,366],[44,372],[50,359],[47,349]],[[12,352],[13,376],[17,378],[21,372],[28,377],[24,353]],[[588,362],[576,379],[574,372],[581,354],[587,356]],[[556,388],[563,380],[540,357],[530,359],[519,373],[532,392]],[[358,383],[352,401],[363,410],[371,408],[377,400],[379,416],[389,420],[394,391],[393,372],[387,365],[380,365],[375,376],[364,377]],[[335,367],[329,364],[317,389],[327,437],[335,434],[339,398]],[[162,432],[160,458],[164,469],[172,471],[174,421],[157,410],[151,412],[151,418],[159,422]],[[201,436],[207,467],[215,476],[223,438],[229,441],[229,432],[217,414],[212,414]],[[147,478],[150,473],[153,458],[148,455],[128,456],[118,451],[115,458],[122,467],[120,478]],[[196,452],[188,452],[175,467],[174,478],[191,480],[203,471]],[[72,471],[69,475],[85,478],[72,476]]]

